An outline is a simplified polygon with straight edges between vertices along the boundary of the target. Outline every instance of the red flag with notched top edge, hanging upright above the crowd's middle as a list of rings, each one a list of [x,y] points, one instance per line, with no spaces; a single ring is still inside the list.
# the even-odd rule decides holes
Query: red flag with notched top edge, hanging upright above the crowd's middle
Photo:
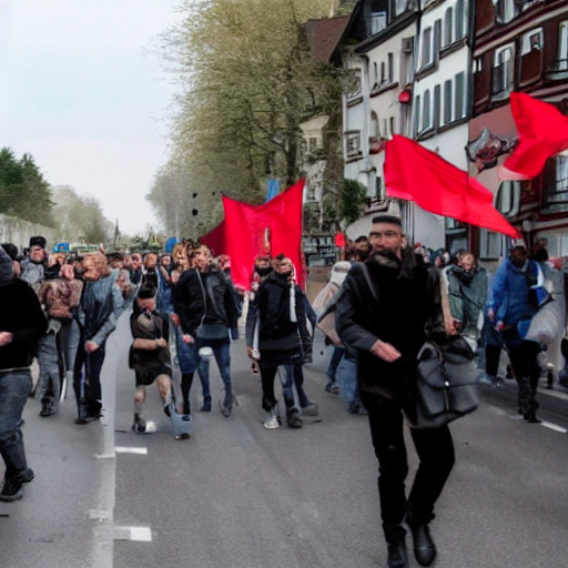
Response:
[[[226,254],[231,256],[231,277],[246,288],[251,285],[257,255],[284,253],[304,284],[302,265],[302,204],[304,180],[276,197],[254,206],[223,196]],[[270,246],[270,247],[268,247]]]

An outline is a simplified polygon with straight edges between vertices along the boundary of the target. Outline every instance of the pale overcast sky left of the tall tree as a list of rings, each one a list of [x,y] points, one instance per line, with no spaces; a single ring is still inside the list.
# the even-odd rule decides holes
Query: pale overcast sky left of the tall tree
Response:
[[[121,232],[159,229],[145,195],[168,161],[178,88],[154,50],[175,0],[0,0],[0,148],[95,196]]]

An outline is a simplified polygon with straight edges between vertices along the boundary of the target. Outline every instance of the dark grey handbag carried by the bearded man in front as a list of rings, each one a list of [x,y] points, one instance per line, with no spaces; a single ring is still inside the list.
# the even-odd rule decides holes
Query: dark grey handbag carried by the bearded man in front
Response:
[[[426,342],[418,353],[415,400],[407,412],[414,428],[438,428],[479,406],[479,371],[462,336],[444,346]]]

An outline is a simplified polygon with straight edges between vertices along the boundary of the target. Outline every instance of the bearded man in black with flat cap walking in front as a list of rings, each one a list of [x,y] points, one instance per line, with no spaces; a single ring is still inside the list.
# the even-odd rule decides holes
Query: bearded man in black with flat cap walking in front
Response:
[[[418,351],[430,334],[443,336],[437,272],[417,266],[410,248],[403,250],[400,220],[373,220],[373,254],[355,263],[337,302],[336,328],[348,349],[357,352],[361,399],[368,410],[371,434],[379,464],[378,493],[388,568],[406,568],[406,530],[414,552],[429,566],[436,547],[428,523],[434,504],[454,465],[452,435],[446,426],[410,429],[420,465],[408,496],[403,409],[412,419],[412,393]]]

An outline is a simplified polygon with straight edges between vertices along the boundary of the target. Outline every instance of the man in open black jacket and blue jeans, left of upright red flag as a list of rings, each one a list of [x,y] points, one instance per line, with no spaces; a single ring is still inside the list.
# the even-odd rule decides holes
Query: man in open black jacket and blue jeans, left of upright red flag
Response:
[[[185,271],[173,290],[172,320],[181,325],[182,339],[193,356],[199,356],[197,372],[203,389],[202,412],[211,412],[209,357],[217,362],[225,396],[220,400],[221,414],[231,416],[233,387],[231,383],[231,339],[229,329],[236,326],[233,283],[222,271],[211,267],[211,251],[202,245],[194,251],[194,268]],[[185,415],[190,414],[190,389],[193,373],[182,374]]]

